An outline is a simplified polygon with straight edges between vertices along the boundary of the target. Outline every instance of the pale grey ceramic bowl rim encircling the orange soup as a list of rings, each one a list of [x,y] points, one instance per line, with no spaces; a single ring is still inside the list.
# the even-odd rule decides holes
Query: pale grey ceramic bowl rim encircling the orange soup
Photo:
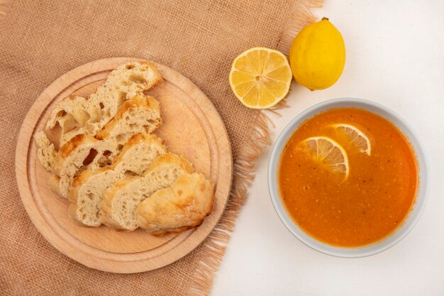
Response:
[[[416,193],[416,202],[413,209],[409,213],[409,216],[404,220],[404,224],[398,227],[393,234],[387,236],[387,238],[382,239],[376,243],[372,243],[367,246],[362,246],[358,248],[341,248],[338,246],[331,246],[327,243],[323,243],[313,237],[306,234],[302,229],[299,228],[292,220],[292,218],[287,213],[284,204],[282,204],[281,197],[279,197],[279,190],[277,187],[277,168],[279,165],[279,158],[281,156],[282,150],[285,144],[292,136],[296,128],[299,127],[306,119],[313,117],[314,115],[320,113],[321,111],[326,111],[328,109],[339,108],[339,107],[356,107],[365,109],[367,111],[378,114],[379,116],[388,119],[392,124],[394,124],[404,135],[409,139],[411,145],[414,148],[416,154],[416,160],[418,161],[418,191]],[[426,205],[426,192],[427,192],[427,177],[428,168],[426,165],[426,159],[423,155],[423,148],[421,148],[421,143],[418,141],[418,137],[414,133],[413,129],[409,124],[407,124],[404,119],[399,115],[394,113],[394,111],[388,109],[381,104],[377,104],[365,99],[354,99],[354,98],[341,98],[341,99],[331,99],[326,102],[322,102],[315,106],[311,106],[304,112],[296,116],[289,125],[284,128],[284,131],[277,138],[274,148],[272,150],[272,155],[270,157],[270,164],[268,168],[268,188],[270,190],[270,196],[274,209],[276,209],[277,215],[281,219],[282,223],[287,227],[287,229],[294,235],[299,241],[305,243],[307,246],[326,253],[331,256],[345,257],[345,258],[357,258],[371,256],[376,253],[382,252],[394,246],[396,243],[401,241],[401,239],[406,236],[411,229],[414,228],[418,222],[423,209]]]

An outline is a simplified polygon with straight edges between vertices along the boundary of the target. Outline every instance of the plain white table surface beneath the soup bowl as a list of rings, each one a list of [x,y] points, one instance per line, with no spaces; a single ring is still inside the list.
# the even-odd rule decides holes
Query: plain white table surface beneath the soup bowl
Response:
[[[444,1],[332,1],[328,16],[347,48],[340,80],[310,92],[293,85],[280,131],[307,107],[336,97],[372,99],[421,136],[431,176],[421,220],[404,240],[375,256],[323,255],[299,242],[274,212],[267,189],[271,147],[240,212],[211,295],[444,295]]]

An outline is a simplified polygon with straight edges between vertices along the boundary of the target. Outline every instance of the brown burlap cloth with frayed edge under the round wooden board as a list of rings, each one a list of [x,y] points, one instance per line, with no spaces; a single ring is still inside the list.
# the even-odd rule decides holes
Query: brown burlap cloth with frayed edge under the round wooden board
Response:
[[[253,46],[287,53],[296,31],[311,21],[310,7],[320,5],[319,0],[0,0],[0,294],[208,294],[255,160],[269,141],[265,116],[231,93],[231,62]],[[16,136],[34,100],[60,75],[104,57],[155,60],[189,77],[218,109],[233,148],[233,189],[223,219],[188,256],[146,273],[104,273],[62,255],[31,223],[16,185]]]

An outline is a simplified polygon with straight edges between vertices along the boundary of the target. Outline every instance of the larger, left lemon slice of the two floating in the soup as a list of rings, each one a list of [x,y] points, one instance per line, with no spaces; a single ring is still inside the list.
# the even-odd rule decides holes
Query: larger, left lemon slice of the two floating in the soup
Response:
[[[348,177],[348,157],[344,148],[328,137],[311,137],[304,140],[313,158],[327,165],[332,170],[342,172]]]

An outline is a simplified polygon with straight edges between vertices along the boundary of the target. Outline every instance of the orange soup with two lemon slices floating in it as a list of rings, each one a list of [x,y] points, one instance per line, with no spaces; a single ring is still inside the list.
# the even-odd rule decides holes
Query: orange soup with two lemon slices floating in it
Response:
[[[305,121],[279,160],[279,193],[301,229],[319,241],[364,246],[406,218],[418,187],[406,137],[369,111],[338,108]]]

